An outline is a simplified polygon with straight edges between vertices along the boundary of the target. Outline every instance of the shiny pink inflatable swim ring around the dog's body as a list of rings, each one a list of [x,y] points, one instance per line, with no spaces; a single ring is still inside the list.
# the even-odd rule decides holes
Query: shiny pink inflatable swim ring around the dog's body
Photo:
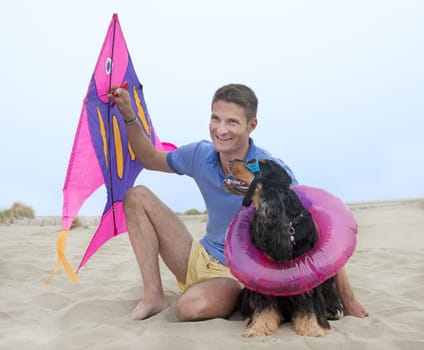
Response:
[[[253,205],[243,207],[228,228],[224,246],[228,266],[245,287],[255,292],[287,296],[315,288],[334,276],[355,250],[357,223],[339,198],[304,185],[292,189],[319,228],[318,241],[306,254],[276,263],[259,251],[249,235]]]

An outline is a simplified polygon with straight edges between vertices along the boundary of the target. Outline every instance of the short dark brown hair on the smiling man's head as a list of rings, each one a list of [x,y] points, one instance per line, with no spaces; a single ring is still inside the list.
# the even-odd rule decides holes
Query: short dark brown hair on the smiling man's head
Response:
[[[216,90],[212,105],[217,101],[232,102],[242,107],[247,121],[256,117],[258,98],[251,88],[243,84],[228,84]]]

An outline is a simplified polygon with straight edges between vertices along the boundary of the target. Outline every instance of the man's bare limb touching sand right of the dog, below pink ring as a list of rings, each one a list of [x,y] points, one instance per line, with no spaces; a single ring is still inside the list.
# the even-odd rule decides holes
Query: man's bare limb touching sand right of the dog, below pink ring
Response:
[[[340,298],[342,299],[344,314],[360,318],[367,317],[368,311],[353,293],[344,267],[337,272],[335,281]]]

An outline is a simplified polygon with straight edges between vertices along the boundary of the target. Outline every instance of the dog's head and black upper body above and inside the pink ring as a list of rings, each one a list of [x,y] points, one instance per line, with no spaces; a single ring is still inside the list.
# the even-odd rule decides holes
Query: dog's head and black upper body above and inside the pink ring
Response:
[[[250,223],[253,244],[275,261],[302,255],[316,241],[310,213],[290,189],[291,177],[272,160],[245,163],[233,159],[228,164],[232,177],[225,188],[244,196],[243,205],[253,202],[256,208]]]

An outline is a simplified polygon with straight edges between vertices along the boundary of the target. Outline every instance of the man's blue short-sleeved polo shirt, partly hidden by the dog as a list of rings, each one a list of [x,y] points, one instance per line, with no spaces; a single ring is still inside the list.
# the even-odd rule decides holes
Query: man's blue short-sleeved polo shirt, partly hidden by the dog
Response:
[[[297,181],[291,169],[267,151],[256,147],[249,140],[246,161],[251,159],[272,159],[289,173],[293,184]],[[241,209],[243,197],[229,193],[223,186],[224,172],[219,163],[218,153],[210,141],[200,141],[181,146],[167,155],[169,167],[180,175],[190,176],[196,181],[208,211],[206,234],[200,240],[209,254],[226,265],[224,239],[234,215]]]

